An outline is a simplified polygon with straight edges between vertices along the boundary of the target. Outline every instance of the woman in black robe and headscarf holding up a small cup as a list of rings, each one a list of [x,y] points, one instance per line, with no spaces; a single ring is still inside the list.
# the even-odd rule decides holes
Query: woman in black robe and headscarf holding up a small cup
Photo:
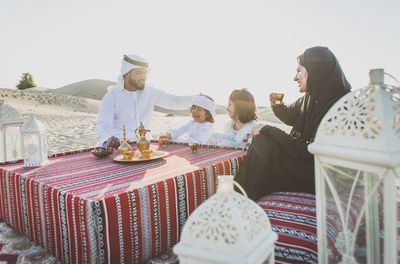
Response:
[[[275,115],[293,126],[290,134],[269,125],[254,128],[253,141],[236,178],[253,200],[276,191],[315,192],[314,156],[307,146],[329,108],[351,89],[328,48],[309,48],[297,61],[294,81],[305,95],[288,106],[276,104],[270,95]]]

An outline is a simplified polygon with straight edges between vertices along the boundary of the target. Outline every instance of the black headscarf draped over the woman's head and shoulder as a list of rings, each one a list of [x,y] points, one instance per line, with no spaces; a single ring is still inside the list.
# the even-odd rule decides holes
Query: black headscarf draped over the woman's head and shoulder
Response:
[[[350,92],[351,85],[335,55],[327,47],[306,49],[297,59],[306,68],[308,77],[302,112],[293,130],[304,141],[313,141],[321,119],[339,98]]]

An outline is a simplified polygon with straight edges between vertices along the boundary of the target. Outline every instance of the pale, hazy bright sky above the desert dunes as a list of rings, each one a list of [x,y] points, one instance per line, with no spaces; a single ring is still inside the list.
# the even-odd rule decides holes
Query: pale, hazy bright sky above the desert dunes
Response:
[[[296,57],[316,45],[353,89],[371,68],[400,80],[399,12],[399,0],[1,0],[0,88],[24,72],[47,88],[116,81],[123,54],[138,54],[149,82],[173,94],[226,104],[246,87],[258,106],[272,91],[289,103],[301,96]]]

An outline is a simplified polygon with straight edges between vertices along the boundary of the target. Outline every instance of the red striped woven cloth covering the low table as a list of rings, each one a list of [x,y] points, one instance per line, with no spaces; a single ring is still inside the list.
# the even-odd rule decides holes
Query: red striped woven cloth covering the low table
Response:
[[[151,145],[154,150],[158,144]],[[89,150],[50,163],[0,168],[0,218],[65,263],[142,263],[178,242],[189,214],[236,175],[246,152],[185,144],[143,163],[116,163]]]

